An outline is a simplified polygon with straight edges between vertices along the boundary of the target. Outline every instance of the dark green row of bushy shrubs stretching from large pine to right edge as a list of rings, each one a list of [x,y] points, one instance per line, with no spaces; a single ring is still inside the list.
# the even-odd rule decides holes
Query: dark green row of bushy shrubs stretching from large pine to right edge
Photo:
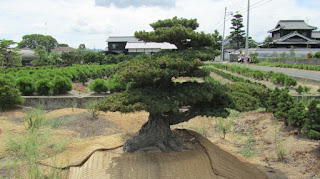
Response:
[[[265,107],[267,111],[273,112],[276,118],[284,119],[285,125],[298,128],[299,133],[310,139],[320,139],[319,99],[314,99],[308,104],[304,104],[297,102],[289,94],[288,88],[266,89],[260,83],[254,83],[248,79],[234,76],[212,67],[208,69],[235,82],[229,84],[231,90],[228,92],[232,97],[234,109],[249,111],[257,107]],[[260,84],[260,89],[257,84]]]

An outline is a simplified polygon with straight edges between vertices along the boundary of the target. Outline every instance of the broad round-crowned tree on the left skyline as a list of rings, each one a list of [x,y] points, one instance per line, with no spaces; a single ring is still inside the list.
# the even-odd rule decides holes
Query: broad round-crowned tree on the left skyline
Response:
[[[18,43],[18,47],[36,49],[41,45],[43,49],[49,52],[51,49],[58,47],[58,44],[57,40],[50,35],[30,34],[22,37],[22,41]]]

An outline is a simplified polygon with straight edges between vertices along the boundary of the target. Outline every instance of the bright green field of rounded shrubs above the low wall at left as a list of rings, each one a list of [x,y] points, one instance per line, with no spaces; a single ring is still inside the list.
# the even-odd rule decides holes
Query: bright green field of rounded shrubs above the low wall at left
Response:
[[[3,69],[0,77],[9,79],[22,95],[60,95],[72,90],[72,82],[105,78],[111,66],[23,67]]]

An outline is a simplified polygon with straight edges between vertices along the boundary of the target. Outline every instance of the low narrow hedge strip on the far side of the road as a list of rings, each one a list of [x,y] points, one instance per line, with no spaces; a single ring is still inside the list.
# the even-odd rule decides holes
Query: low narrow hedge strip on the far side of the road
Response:
[[[298,64],[285,64],[285,63],[281,63],[281,62],[260,62],[260,63],[257,63],[257,65],[320,71],[320,65],[304,65],[304,64],[298,65]]]

